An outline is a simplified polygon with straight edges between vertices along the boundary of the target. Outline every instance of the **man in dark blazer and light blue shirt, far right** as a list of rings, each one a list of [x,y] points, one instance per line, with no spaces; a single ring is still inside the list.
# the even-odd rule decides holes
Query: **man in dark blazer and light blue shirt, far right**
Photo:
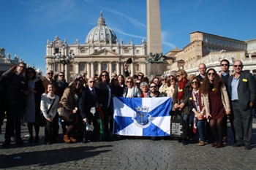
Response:
[[[252,107],[255,102],[255,79],[251,73],[242,72],[243,63],[234,62],[235,74],[227,82],[231,98],[231,109],[234,115],[236,144],[233,147],[245,145],[245,150],[251,150],[252,142]]]

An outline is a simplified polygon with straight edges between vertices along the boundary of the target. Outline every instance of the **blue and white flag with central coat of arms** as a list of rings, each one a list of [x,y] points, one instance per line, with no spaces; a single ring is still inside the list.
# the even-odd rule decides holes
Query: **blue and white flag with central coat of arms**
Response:
[[[113,134],[126,136],[169,136],[170,97],[115,97]]]

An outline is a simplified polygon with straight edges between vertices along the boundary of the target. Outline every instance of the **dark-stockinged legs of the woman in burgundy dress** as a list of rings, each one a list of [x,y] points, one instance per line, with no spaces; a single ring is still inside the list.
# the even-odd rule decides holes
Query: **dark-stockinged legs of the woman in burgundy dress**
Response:
[[[218,120],[210,120],[211,132],[214,134],[215,142],[217,144],[223,144],[223,120],[224,117],[219,118]]]

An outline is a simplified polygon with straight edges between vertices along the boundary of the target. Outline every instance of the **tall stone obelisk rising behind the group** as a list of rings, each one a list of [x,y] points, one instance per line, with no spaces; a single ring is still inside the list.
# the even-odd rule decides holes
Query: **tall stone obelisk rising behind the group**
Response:
[[[147,0],[147,74],[163,74],[159,0]]]

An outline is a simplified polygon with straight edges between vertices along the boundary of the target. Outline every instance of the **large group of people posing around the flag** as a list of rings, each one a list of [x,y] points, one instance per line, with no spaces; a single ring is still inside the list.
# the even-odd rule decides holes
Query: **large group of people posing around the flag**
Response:
[[[23,111],[29,128],[29,142],[39,142],[37,117],[40,114],[45,117],[46,144],[56,142],[59,125],[66,143],[78,140],[87,142],[86,126],[90,124],[94,125],[94,130],[89,140],[110,141],[113,137],[113,96],[168,96],[173,100],[171,117],[185,121],[187,130],[197,134],[199,146],[212,140],[211,147],[223,147],[227,141],[229,117],[235,141],[233,147],[244,144],[245,149],[250,150],[251,112],[255,103],[254,77],[242,71],[241,61],[234,61],[234,74],[229,71],[229,61],[222,60],[220,66],[222,72],[219,74],[214,69],[206,70],[206,65],[201,63],[198,67],[200,74],[197,76],[188,76],[181,69],[170,75],[162,74],[161,77],[145,77],[142,72],[131,77],[125,64],[125,77],[103,71],[99,77],[89,77],[86,80],[83,73],[78,73],[68,84],[64,72],[59,72],[54,79],[53,70],[47,70],[46,76],[42,77],[33,68],[26,69],[26,63],[20,63],[2,75],[7,112],[3,147],[11,144],[14,133],[16,144],[23,144],[20,138],[20,118]],[[188,134],[181,139],[181,144],[188,144],[189,137]]]

